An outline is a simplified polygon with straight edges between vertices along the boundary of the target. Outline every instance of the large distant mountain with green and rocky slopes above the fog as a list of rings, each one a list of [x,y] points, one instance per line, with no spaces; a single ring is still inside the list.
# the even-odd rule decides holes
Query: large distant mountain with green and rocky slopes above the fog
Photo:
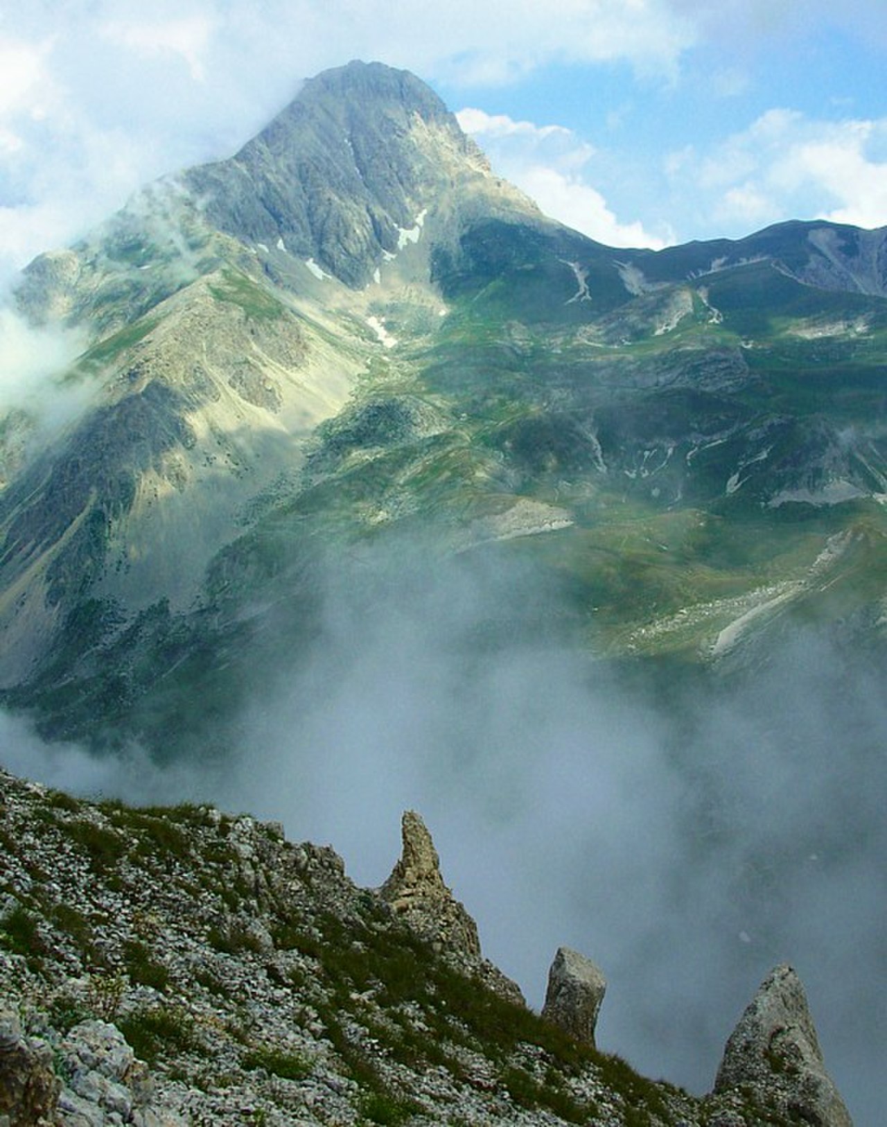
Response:
[[[536,568],[547,629],[597,654],[881,637],[886,247],[614,250],[413,76],[310,80],[25,272],[21,313],[87,347],[66,428],[0,431],[7,703],[167,746],[198,686],[224,712],[257,654],[308,653],[344,545],[401,538]]]

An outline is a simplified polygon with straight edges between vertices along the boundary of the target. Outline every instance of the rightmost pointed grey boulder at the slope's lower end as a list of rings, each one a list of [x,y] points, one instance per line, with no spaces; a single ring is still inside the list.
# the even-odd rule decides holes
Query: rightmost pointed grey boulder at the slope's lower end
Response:
[[[813,1127],[852,1127],[825,1071],[804,986],[789,966],[768,975],[727,1041],[715,1091],[740,1085]]]

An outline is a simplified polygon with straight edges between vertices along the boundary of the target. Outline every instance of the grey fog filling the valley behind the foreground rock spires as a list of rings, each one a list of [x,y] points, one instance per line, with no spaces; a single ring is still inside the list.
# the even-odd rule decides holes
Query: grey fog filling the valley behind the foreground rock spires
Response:
[[[16,771],[206,798],[331,843],[361,885],[426,819],[485,953],[534,1006],[567,943],[609,979],[602,1048],[710,1089],[760,980],[791,962],[858,1127],[880,1121],[885,674],[816,633],[752,674],[657,675],[557,642],[526,568],[423,551],[330,567],[322,638],[258,671],[238,754],[98,762],[7,720]]]

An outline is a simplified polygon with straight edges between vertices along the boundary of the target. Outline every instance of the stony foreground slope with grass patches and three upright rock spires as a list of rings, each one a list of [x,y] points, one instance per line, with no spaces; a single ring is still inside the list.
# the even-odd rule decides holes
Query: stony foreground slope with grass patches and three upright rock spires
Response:
[[[0,841],[6,1127],[850,1122],[788,968],[704,1097],[594,1048],[577,952],[558,951],[557,1005],[531,1012],[484,960],[414,813],[381,890],[275,824],[6,773]]]

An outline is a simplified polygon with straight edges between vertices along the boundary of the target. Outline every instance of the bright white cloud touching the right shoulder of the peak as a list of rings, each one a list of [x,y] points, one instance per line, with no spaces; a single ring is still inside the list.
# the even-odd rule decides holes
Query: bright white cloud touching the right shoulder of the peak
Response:
[[[611,247],[664,247],[665,237],[640,222],[621,222],[586,168],[595,154],[587,142],[562,125],[535,125],[505,114],[461,109],[456,117],[507,177],[553,219]]]

